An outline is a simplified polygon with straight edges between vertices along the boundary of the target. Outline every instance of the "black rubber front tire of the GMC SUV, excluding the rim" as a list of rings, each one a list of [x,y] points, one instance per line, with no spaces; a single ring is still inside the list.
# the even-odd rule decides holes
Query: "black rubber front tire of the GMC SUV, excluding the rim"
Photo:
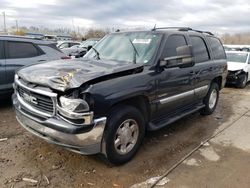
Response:
[[[139,134],[137,143],[135,144],[133,149],[127,154],[121,155],[116,151],[114,146],[114,141],[117,129],[127,119],[133,119],[136,121],[139,128]],[[107,129],[105,130],[104,134],[105,134],[104,139],[106,145],[105,153],[107,159],[109,160],[109,162],[113,164],[123,164],[132,159],[132,157],[136,154],[143,141],[145,134],[144,118],[140,113],[140,111],[134,107],[124,106],[124,105],[116,107],[114,110],[111,111],[111,114],[108,117]]]

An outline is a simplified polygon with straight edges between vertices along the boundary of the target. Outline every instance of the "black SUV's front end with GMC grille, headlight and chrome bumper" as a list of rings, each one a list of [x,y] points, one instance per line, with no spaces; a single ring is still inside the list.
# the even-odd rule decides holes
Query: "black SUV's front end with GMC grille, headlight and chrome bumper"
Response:
[[[57,93],[17,75],[14,88],[16,117],[26,130],[74,152],[101,152],[106,117],[94,118],[87,94]]]

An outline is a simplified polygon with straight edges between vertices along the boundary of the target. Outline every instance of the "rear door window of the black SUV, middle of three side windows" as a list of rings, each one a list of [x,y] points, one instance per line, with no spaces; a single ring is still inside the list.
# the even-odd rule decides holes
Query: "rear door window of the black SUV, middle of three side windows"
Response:
[[[205,41],[199,36],[190,36],[193,47],[193,55],[196,63],[209,60],[209,54]]]

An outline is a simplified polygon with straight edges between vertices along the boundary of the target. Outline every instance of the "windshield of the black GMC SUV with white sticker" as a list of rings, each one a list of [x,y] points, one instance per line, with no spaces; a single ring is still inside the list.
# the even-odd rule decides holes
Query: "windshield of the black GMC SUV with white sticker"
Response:
[[[131,63],[148,63],[160,42],[160,34],[146,32],[111,34],[101,40],[95,49],[91,49],[86,58],[125,61]]]

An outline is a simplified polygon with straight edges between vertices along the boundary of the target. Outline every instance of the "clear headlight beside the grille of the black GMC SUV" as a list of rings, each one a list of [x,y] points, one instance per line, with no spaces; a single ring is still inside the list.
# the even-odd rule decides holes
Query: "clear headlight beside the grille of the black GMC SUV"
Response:
[[[60,97],[61,107],[64,110],[75,113],[83,113],[89,111],[89,105],[82,99],[70,99],[64,96]]]

